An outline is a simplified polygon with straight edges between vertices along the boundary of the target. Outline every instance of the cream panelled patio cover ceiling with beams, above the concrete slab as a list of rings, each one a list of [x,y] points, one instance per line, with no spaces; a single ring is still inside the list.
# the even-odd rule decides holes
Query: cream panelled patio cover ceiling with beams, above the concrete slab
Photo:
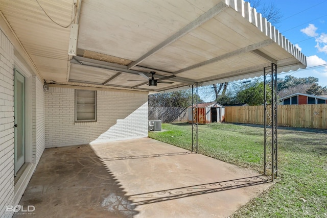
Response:
[[[261,76],[271,63],[278,72],[307,65],[243,0],[0,0],[0,9],[35,71],[57,84],[168,91]],[[71,29],[45,12],[79,24],[77,56],[68,56]],[[171,84],[148,86],[138,74],[150,71]]]

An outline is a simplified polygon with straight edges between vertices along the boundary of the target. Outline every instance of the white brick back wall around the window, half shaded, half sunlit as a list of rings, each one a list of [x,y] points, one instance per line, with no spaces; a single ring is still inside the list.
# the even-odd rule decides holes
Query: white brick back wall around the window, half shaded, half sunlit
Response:
[[[75,123],[75,89],[45,93],[45,147],[98,143],[148,136],[148,95],[97,91],[97,122]]]

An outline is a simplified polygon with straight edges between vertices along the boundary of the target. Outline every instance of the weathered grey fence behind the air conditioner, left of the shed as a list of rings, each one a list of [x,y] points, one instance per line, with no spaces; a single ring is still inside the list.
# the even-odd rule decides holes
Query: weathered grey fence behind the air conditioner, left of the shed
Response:
[[[177,107],[149,107],[148,117],[159,119],[161,123],[188,122],[188,110]]]

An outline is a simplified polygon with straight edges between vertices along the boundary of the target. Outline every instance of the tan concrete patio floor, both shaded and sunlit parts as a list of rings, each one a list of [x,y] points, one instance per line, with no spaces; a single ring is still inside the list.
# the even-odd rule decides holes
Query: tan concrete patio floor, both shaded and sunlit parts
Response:
[[[228,217],[271,184],[141,138],[46,149],[19,204],[35,206],[33,217]]]

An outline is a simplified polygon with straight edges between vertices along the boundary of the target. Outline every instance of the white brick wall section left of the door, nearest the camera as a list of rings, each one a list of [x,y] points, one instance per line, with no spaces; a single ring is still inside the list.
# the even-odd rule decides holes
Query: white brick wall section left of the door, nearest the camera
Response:
[[[14,49],[0,31],[0,216],[14,196]]]

